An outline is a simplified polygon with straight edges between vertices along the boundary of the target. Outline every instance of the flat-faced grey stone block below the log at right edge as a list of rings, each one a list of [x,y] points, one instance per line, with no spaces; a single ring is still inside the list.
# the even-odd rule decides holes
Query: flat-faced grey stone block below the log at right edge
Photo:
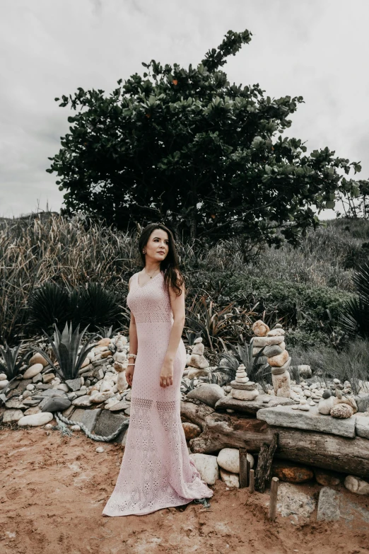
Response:
[[[354,524],[356,531],[368,531],[369,512],[342,492],[323,487],[319,495],[317,520],[339,521],[339,524],[350,528]]]

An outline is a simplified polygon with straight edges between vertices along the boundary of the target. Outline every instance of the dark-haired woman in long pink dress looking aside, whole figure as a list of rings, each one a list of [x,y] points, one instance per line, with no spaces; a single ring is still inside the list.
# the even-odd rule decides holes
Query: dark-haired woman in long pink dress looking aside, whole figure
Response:
[[[180,419],[185,286],[170,229],[146,226],[139,252],[144,269],[129,279],[127,295],[131,416],[107,516],[149,514],[213,495],[189,458]]]

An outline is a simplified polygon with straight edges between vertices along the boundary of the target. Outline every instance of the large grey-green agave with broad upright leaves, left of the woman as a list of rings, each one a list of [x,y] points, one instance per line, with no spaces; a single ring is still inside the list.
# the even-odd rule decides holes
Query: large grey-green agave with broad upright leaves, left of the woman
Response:
[[[87,328],[88,325],[82,331],[82,333],[78,334],[78,323],[72,335],[72,325],[70,325],[69,327],[68,323],[66,323],[63,333],[60,333],[57,325],[55,325],[54,340],[52,340],[52,338],[49,337],[49,335],[47,335],[47,333],[45,333],[44,331],[59,366],[54,364],[54,362],[52,362],[46,352],[44,352],[40,348],[33,346],[33,350],[40,352],[40,354],[42,354],[42,356],[47,359],[47,362],[49,362],[49,364],[54,368],[55,371],[57,371],[61,379],[63,379],[64,381],[66,381],[67,379],[77,379],[78,371],[81,369],[81,366],[86,359],[88,352],[93,350],[93,347],[95,346],[89,346],[90,342],[95,340],[96,335],[93,335],[86,342],[86,344],[81,347],[81,340],[83,338],[83,335],[86,333]],[[81,351],[78,354],[80,348]]]

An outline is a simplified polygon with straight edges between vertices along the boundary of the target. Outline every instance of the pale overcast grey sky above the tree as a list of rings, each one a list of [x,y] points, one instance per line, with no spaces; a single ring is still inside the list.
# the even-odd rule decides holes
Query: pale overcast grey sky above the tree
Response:
[[[368,0],[1,0],[0,216],[61,207],[45,170],[73,112],[55,97],[108,96],[151,59],[198,64],[228,30],[252,33],[223,67],[230,82],[303,96],[284,136],[361,161],[356,178],[369,178],[368,16]]]

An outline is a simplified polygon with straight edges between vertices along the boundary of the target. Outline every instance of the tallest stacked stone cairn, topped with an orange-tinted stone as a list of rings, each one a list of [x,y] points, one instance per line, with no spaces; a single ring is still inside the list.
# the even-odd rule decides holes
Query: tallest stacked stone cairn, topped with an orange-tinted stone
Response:
[[[258,320],[252,325],[252,330],[255,335],[252,337],[254,345],[252,355],[257,356],[264,347],[263,357],[266,357],[266,362],[271,366],[275,396],[290,398],[291,377],[287,369],[291,365],[291,357],[286,350],[282,325],[277,323],[274,329],[270,330],[264,321]],[[263,359],[260,361],[262,362]]]

